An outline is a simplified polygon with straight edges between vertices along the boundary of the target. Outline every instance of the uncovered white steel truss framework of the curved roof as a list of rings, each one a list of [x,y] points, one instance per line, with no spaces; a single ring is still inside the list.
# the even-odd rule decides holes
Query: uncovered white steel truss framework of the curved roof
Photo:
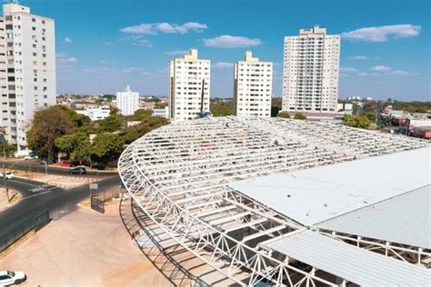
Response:
[[[258,243],[299,223],[229,189],[238,179],[426,146],[424,141],[296,120],[204,118],[145,134],[118,170],[139,208],[175,242],[241,285],[336,285]],[[239,232],[240,231],[240,232]],[[235,274],[247,271],[246,282]]]

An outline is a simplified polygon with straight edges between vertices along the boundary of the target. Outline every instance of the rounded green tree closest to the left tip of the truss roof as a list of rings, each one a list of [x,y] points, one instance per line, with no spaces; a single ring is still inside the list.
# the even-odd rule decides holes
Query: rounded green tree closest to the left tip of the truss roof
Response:
[[[117,159],[124,150],[124,139],[118,134],[97,134],[91,145],[91,160],[107,163]]]

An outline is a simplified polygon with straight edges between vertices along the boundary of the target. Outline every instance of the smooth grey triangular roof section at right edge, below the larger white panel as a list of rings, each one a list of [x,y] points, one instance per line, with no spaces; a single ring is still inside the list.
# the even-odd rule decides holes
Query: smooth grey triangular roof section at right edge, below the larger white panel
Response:
[[[431,249],[431,185],[316,226]]]

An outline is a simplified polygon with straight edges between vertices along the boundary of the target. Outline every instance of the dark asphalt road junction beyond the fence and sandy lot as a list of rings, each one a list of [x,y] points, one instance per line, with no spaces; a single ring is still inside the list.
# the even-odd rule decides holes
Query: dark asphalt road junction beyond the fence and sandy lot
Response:
[[[2,183],[2,181],[0,181]],[[89,196],[88,184],[65,190],[51,186],[42,188],[45,183],[15,178],[9,180],[8,186],[23,195],[23,198],[12,207],[0,212],[0,235],[9,231],[16,224],[24,222],[29,216],[50,210],[53,219],[71,213],[76,203]],[[99,190],[103,191],[118,186],[121,181],[118,175],[113,175],[97,182]],[[32,191],[33,190],[33,191]]]

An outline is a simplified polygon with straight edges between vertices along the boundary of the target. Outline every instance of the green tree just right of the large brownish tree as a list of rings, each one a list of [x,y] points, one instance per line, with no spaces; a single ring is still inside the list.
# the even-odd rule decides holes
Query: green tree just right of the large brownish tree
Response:
[[[55,146],[67,153],[71,162],[89,162],[91,143],[88,134],[77,132],[63,135],[55,140]]]

